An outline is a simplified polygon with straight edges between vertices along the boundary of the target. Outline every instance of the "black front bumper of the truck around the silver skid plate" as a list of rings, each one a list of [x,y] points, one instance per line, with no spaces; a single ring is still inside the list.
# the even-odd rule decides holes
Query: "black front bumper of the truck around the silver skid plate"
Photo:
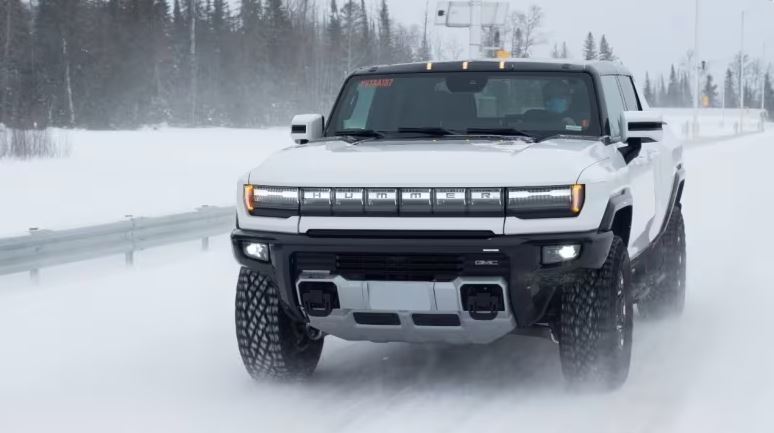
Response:
[[[389,271],[383,274],[374,274],[373,269],[367,271],[354,272],[348,268],[347,272],[351,275],[346,276],[346,280],[361,284],[361,290],[364,297],[369,293],[369,283],[379,282],[384,285],[389,282],[395,282],[393,286],[398,287],[401,284],[410,283],[405,281],[405,269],[411,268],[408,257],[421,255],[448,256],[457,255],[461,257],[461,267],[458,272],[460,275],[444,275],[442,281],[426,274],[417,274],[421,281],[415,283],[424,283],[422,287],[427,293],[437,294],[436,287],[443,284],[448,286],[449,282],[458,278],[500,278],[504,286],[505,309],[498,313],[497,318],[503,321],[509,321],[509,327],[527,328],[536,323],[545,321],[549,306],[554,299],[554,294],[561,285],[573,275],[582,269],[599,269],[604,264],[610,245],[613,241],[612,232],[584,232],[568,234],[540,234],[540,235],[518,235],[518,236],[497,236],[489,233],[480,232],[391,232],[391,231],[372,231],[372,232],[348,232],[331,231],[316,232],[313,234],[286,234],[269,233],[258,231],[234,230],[231,235],[234,255],[237,261],[243,266],[271,276],[280,292],[280,299],[287,312],[297,320],[310,321],[310,316],[306,314],[299,299],[298,283],[302,278],[308,278],[310,273],[307,271],[319,271],[328,268],[328,272],[316,272],[318,279],[333,279],[340,277],[336,269],[330,269],[331,266],[344,266],[342,263],[352,257],[370,257],[378,255],[380,260],[385,257],[402,256],[403,261],[390,262],[397,265],[390,267]],[[245,256],[242,245],[245,242],[261,242],[270,245],[271,262],[264,263]],[[557,245],[575,243],[581,245],[580,255],[570,262],[559,265],[541,264],[541,247],[545,245]],[[335,257],[326,261],[326,258]],[[496,257],[496,260],[486,260],[487,257]],[[322,259],[322,260],[321,260]],[[483,260],[480,261],[479,260]],[[477,273],[477,267],[469,266],[470,263],[484,263],[480,267],[480,273]],[[498,263],[499,262],[499,263]],[[312,265],[311,263],[314,263]],[[326,264],[327,263],[327,264]],[[358,262],[359,263],[359,262]],[[496,269],[487,268],[486,265],[498,263],[501,266]],[[383,263],[381,263],[383,265]],[[507,266],[502,266],[506,264]],[[381,269],[381,268],[380,268]],[[387,268],[384,268],[387,269]],[[401,273],[403,272],[403,273]],[[444,271],[448,274],[448,270]],[[446,278],[448,277],[448,278]],[[413,278],[413,277],[409,277]],[[435,280],[433,282],[433,280]],[[400,282],[400,283],[399,283]],[[429,285],[428,285],[429,284]],[[397,290],[397,289],[396,289]],[[459,293],[458,293],[459,295]],[[367,301],[367,300],[366,300]],[[366,302],[367,304],[367,302]],[[359,310],[358,305],[350,305],[342,310],[352,313]],[[368,309],[363,305],[363,309]],[[422,307],[424,308],[424,307]],[[373,308],[366,310],[370,312]],[[440,312],[443,309],[438,307],[437,300],[431,300],[429,312]],[[463,310],[460,306],[458,310]],[[394,312],[400,314],[411,314],[412,311],[396,305]],[[416,311],[414,311],[416,312]],[[459,311],[463,325],[465,323],[465,312]],[[335,315],[334,315],[335,316]],[[408,318],[406,316],[405,318]],[[331,332],[334,335],[342,334],[343,329],[355,327],[351,316],[342,317],[342,321],[331,326],[339,329],[337,332]],[[404,323],[404,320],[401,320]],[[317,320],[314,324],[319,324]],[[361,325],[357,325],[361,326]],[[370,326],[370,325],[362,325]],[[506,326],[507,327],[507,326]],[[433,327],[435,328],[435,327]],[[464,326],[463,326],[464,328]],[[502,330],[503,328],[497,328]],[[405,331],[411,331],[406,329]],[[498,331],[499,332],[499,331]],[[344,335],[349,339],[370,339],[377,341],[425,341],[432,337],[425,338],[420,334],[417,338],[403,338],[399,335],[393,335],[385,332],[384,338],[373,337],[371,332],[354,332]],[[401,335],[407,335],[406,332]],[[341,336],[341,335],[340,335]],[[456,341],[455,338],[441,338],[445,341]],[[481,338],[469,338],[470,341],[487,340],[485,336]],[[466,341],[465,338],[460,341]]]

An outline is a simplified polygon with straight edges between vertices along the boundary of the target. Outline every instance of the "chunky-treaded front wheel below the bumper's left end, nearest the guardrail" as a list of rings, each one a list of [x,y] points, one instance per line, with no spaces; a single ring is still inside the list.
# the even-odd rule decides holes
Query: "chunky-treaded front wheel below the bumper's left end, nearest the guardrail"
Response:
[[[236,334],[242,362],[254,379],[298,379],[320,360],[323,334],[290,318],[280,306],[277,286],[247,268],[239,272]]]

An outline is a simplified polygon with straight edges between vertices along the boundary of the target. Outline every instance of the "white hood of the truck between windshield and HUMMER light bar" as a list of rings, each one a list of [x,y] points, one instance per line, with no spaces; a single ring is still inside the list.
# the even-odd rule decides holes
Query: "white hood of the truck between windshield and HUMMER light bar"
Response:
[[[326,141],[281,150],[250,183],[307,187],[505,187],[566,185],[605,158],[600,141]]]

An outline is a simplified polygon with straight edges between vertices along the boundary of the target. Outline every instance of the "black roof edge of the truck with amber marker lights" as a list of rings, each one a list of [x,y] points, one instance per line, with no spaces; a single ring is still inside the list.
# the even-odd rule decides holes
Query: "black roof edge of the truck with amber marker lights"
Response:
[[[532,72],[590,72],[594,75],[628,75],[631,72],[619,63],[569,59],[481,59],[443,62],[414,62],[394,65],[367,66],[352,75],[374,75],[412,72],[452,71],[532,71]]]

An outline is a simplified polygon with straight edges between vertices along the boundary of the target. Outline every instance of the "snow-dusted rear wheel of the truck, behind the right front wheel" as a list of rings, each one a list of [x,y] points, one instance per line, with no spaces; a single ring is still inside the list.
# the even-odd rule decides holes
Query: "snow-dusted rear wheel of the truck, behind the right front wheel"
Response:
[[[643,317],[679,316],[685,308],[685,223],[680,206],[669,218],[666,231],[656,245],[654,283],[637,302]]]

